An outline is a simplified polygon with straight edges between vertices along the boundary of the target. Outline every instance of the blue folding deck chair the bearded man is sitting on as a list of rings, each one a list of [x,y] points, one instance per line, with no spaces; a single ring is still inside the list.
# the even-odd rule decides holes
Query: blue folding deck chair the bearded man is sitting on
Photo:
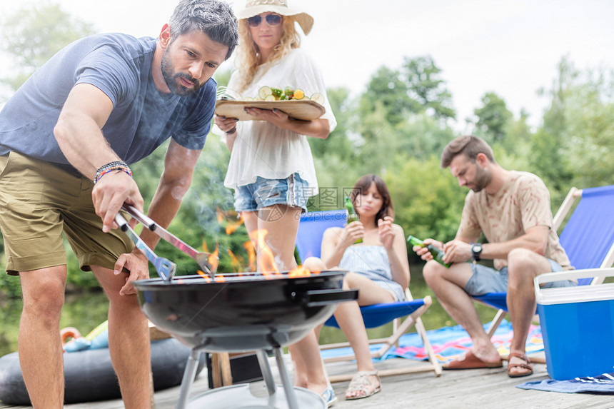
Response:
[[[565,220],[576,199],[578,206],[573,210],[563,232],[560,244],[565,249],[571,265],[578,270],[588,268],[609,268],[614,264],[614,185],[598,188],[571,188],[553,218],[553,228],[558,230]],[[596,285],[603,279],[583,278],[578,285]],[[487,306],[498,308],[487,330],[492,337],[508,312],[505,302],[507,293],[488,293],[473,299]],[[533,362],[545,363],[542,358],[532,358]]]

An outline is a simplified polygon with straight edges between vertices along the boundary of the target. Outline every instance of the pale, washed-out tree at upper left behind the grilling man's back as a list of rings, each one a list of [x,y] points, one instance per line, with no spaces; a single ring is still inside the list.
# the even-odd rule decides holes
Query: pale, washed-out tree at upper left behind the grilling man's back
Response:
[[[0,78],[16,90],[39,66],[67,44],[94,34],[93,26],[74,18],[58,4],[27,4],[1,18],[1,48],[10,56],[18,74]]]

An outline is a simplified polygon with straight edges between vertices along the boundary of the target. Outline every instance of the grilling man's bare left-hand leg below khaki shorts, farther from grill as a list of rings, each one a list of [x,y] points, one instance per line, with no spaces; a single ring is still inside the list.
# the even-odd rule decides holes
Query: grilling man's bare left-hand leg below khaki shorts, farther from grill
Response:
[[[60,317],[66,266],[21,271],[24,310],[19,324],[19,362],[34,408],[64,407],[64,359]]]

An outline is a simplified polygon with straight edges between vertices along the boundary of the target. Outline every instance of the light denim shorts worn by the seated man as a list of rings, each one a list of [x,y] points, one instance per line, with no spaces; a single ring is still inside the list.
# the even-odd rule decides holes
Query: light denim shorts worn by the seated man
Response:
[[[553,260],[550,260],[550,268],[552,272],[563,271],[563,268]],[[503,267],[499,271],[494,268],[482,266],[477,263],[470,263],[473,270],[473,275],[465,284],[465,293],[470,296],[482,296],[488,293],[505,293],[508,291],[508,268]],[[554,287],[573,287],[578,283],[569,280],[552,281],[545,283],[542,288]]]

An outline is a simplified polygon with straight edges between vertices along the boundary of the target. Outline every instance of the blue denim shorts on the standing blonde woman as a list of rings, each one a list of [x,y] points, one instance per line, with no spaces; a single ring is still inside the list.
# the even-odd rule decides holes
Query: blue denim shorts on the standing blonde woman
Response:
[[[238,186],[234,193],[236,211],[258,211],[273,205],[300,207],[307,211],[310,191],[308,183],[298,173],[285,179],[266,179],[258,176],[254,183]]]

